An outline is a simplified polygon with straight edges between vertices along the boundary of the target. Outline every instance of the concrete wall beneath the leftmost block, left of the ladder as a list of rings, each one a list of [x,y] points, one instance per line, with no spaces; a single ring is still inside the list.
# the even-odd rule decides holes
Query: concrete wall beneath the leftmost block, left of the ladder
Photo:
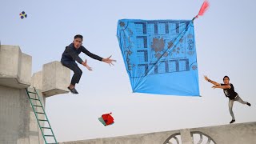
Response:
[[[44,143],[25,89],[0,86],[0,114],[1,144]]]

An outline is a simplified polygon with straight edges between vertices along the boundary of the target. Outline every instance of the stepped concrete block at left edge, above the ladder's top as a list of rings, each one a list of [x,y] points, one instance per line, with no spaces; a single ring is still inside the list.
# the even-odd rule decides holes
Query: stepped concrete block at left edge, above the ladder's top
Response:
[[[0,85],[18,89],[30,86],[32,57],[19,46],[0,47]]]

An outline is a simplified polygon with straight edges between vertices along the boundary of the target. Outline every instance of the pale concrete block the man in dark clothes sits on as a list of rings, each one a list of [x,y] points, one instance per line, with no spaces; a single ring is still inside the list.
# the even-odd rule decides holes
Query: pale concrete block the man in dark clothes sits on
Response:
[[[69,92],[70,69],[62,66],[61,62],[46,63],[42,67],[42,93],[45,97]]]

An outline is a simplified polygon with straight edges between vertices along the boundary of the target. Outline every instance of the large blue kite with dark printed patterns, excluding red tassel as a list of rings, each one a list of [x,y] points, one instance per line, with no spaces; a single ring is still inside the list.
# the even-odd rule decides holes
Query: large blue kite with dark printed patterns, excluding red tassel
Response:
[[[191,20],[121,19],[117,36],[133,92],[199,96]]]

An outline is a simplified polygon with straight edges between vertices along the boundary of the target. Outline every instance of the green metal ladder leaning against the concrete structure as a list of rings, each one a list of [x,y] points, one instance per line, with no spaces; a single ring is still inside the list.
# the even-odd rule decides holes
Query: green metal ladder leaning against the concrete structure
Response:
[[[28,95],[28,97],[30,99],[30,104],[31,104],[32,109],[34,111],[35,117],[37,118],[38,126],[40,127],[40,130],[42,132],[42,137],[43,137],[44,141],[46,142],[46,144],[50,144],[49,142],[47,142],[46,138],[54,138],[54,143],[57,144],[58,142],[57,142],[57,140],[56,140],[56,138],[54,136],[54,131],[52,130],[52,128],[50,126],[49,119],[46,116],[46,111],[45,111],[45,109],[42,106],[42,102],[41,102],[41,100],[40,100],[40,98],[38,96],[37,90],[34,88],[34,92],[32,92],[32,91],[29,91],[28,88],[26,88],[26,93],[27,93],[27,95]],[[35,97],[31,98],[30,94],[35,94]],[[32,102],[32,101],[34,101],[34,102]],[[36,107],[38,107],[39,109],[42,109],[42,110],[41,111],[37,111]],[[38,114],[45,115],[45,118],[42,118],[42,119],[38,118]],[[41,126],[40,122],[47,122],[49,126]],[[45,134],[44,130],[48,130],[51,134]]]

